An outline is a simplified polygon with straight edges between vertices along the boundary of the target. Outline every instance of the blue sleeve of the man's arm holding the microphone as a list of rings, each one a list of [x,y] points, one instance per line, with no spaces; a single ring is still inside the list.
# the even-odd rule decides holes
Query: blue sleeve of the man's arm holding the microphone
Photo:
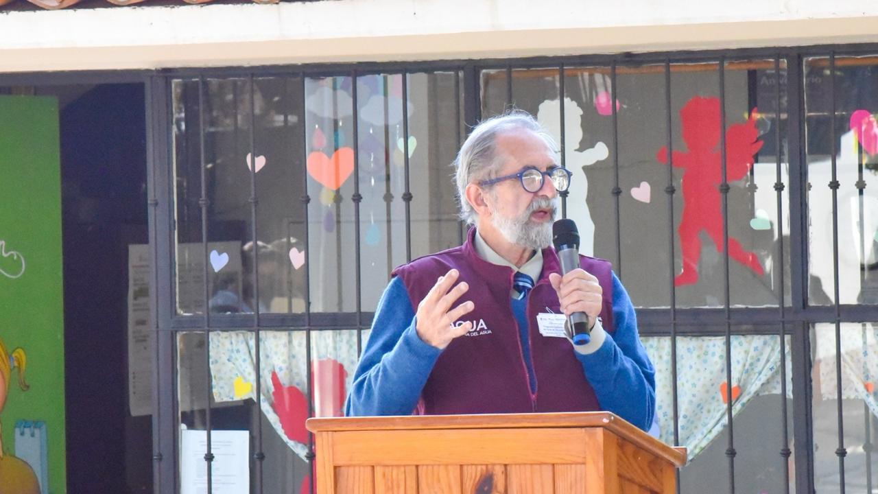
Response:
[[[615,273],[613,323],[613,335],[602,328],[602,334],[593,331],[591,343],[600,342],[602,337],[600,346],[587,351],[577,348],[576,357],[601,408],[647,431],[655,414],[655,368],[640,343],[634,306]]]

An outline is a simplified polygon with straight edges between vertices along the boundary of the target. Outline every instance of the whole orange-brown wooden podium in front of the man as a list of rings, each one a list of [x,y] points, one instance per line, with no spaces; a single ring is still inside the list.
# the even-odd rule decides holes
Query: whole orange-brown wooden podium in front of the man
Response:
[[[673,494],[686,449],[608,412],[311,418],[317,492]]]

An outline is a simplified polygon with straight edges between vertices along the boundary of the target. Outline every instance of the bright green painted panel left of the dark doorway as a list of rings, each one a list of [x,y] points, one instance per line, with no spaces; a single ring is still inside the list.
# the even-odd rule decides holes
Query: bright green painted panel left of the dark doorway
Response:
[[[30,384],[19,389],[13,369],[0,422],[7,454],[18,419],[46,422],[51,494],[67,490],[60,152],[55,98],[0,96],[0,241],[25,260],[11,278],[17,260],[0,252],[0,340],[7,352],[25,349]]]

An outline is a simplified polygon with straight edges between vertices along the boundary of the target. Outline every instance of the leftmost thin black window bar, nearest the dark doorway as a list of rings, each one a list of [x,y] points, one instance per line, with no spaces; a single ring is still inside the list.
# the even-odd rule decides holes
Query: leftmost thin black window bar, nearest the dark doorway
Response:
[[[204,255],[203,263],[202,263],[202,274],[204,281],[204,295],[205,295],[205,368],[207,372],[205,373],[205,380],[207,381],[207,386],[205,387],[205,397],[207,399],[207,409],[205,410],[205,425],[207,427],[207,451],[205,452],[205,461],[207,462],[207,494],[212,494],[213,492],[213,453],[212,453],[212,423],[211,423],[211,396],[212,396],[212,385],[211,385],[211,309],[210,309],[210,288],[209,288],[209,273],[207,271],[208,264],[208,247],[207,247],[207,214],[208,214],[208,200],[207,200],[207,163],[205,159],[205,78],[204,76],[198,77],[198,152],[200,156],[200,173],[201,173],[201,197],[198,199],[198,205],[201,207],[201,248],[202,254]]]

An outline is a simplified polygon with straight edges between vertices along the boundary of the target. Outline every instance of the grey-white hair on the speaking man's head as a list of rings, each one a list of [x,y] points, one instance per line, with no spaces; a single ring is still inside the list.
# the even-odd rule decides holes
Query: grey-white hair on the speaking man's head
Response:
[[[479,215],[466,200],[466,185],[492,178],[503,166],[497,156],[497,136],[515,129],[525,129],[536,134],[546,144],[546,149],[555,153],[557,146],[545,127],[522,110],[511,110],[488,120],[482,120],[473,127],[454,160],[456,168],[457,200],[460,204],[460,219],[474,225]]]

